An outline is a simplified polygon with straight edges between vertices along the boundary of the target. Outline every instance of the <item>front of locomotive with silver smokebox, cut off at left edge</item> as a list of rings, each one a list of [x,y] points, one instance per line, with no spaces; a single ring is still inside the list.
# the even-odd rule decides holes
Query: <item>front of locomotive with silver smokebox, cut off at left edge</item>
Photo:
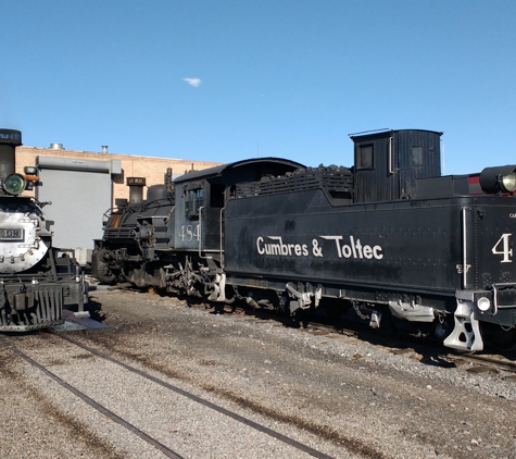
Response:
[[[52,247],[52,222],[34,198],[36,168],[15,173],[22,133],[0,129],[0,332],[24,332],[64,322],[63,308],[87,317],[87,284],[71,250]],[[49,203],[49,202],[46,202]]]

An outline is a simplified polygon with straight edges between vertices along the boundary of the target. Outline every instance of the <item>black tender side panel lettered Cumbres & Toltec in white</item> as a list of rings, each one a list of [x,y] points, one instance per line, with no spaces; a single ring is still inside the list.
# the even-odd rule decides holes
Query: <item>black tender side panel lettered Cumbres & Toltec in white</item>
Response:
[[[231,200],[228,273],[320,283],[462,288],[458,200],[331,207],[320,190]]]

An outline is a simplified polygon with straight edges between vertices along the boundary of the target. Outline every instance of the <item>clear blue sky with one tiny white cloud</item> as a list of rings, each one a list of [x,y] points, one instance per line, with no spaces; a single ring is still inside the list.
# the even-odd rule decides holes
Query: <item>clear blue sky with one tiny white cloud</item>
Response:
[[[0,0],[0,127],[27,146],[352,165],[348,134],[444,132],[516,164],[514,0]]]

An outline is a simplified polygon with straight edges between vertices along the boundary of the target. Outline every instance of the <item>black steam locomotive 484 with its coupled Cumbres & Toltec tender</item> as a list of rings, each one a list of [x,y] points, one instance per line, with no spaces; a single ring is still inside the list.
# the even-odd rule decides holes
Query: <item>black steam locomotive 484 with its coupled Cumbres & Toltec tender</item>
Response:
[[[96,240],[106,283],[516,345],[516,166],[441,176],[430,131],[351,135],[354,166],[264,158],[149,187]]]

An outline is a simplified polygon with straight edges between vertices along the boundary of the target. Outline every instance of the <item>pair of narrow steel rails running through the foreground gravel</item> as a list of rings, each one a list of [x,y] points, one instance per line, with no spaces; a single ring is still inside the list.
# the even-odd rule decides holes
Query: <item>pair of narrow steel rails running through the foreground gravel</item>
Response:
[[[53,335],[55,336],[59,336],[60,338],[81,348],[83,350],[86,350],[88,352],[91,352],[92,355],[97,356],[97,357],[100,357],[109,362],[112,362],[118,367],[122,367],[123,369],[134,373],[134,374],[137,374],[138,376],[142,377],[142,379],[146,379],[148,381],[151,381],[152,383],[154,384],[158,384],[168,390],[172,390],[183,397],[186,397],[188,398],[189,400],[192,400],[197,404],[200,404],[211,410],[214,410],[221,414],[224,414],[228,418],[231,418],[234,419],[235,421],[241,423],[241,424],[244,424],[247,426],[250,426],[265,435],[268,435],[270,437],[274,437],[276,439],[278,439],[279,442],[282,442],[295,449],[299,449],[310,456],[313,456],[313,457],[316,457],[316,458],[324,458],[324,459],[328,459],[330,458],[330,456],[322,452],[322,451],[318,451],[307,445],[304,445],[293,438],[290,438],[288,437],[287,435],[284,435],[277,431],[274,431],[272,429],[268,429],[266,427],[265,425],[262,425],[257,422],[254,422],[250,419],[247,419],[234,411],[230,411],[226,408],[223,408],[218,405],[215,405],[206,399],[203,399],[194,394],[191,394],[187,390],[184,390],[179,387],[176,387],[163,380],[160,380],[155,376],[152,376],[151,374],[144,372],[144,371],[141,371],[135,367],[131,367],[118,359],[115,359],[113,358],[112,356],[109,356],[104,352],[101,352],[92,347],[89,347],[76,339],[73,339],[68,336],[64,336],[63,334],[56,334],[56,333],[52,333]],[[138,437],[140,437],[141,439],[143,439],[144,442],[147,442],[148,444],[150,444],[151,446],[153,446],[154,448],[156,448],[158,450],[160,450],[163,455],[165,455],[166,457],[169,457],[169,458],[181,458],[183,456],[180,456],[177,451],[173,450],[169,446],[166,446],[164,445],[163,443],[159,442],[158,439],[155,439],[154,437],[152,437],[151,435],[148,435],[147,433],[144,433],[143,431],[141,431],[140,429],[138,429],[137,426],[135,426],[134,424],[129,423],[127,420],[123,419],[122,417],[117,415],[116,413],[114,413],[113,411],[109,410],[108,408],[105,408],[104,406],[102,406],[100,402],[93,400],[92,398],[90,398],[89,396],[87,396],[85,393],[83,393],[81,390],[79,390],[78,388],[74,387],[73,385],[68,384],[67,382],[65,382],[63,379],[59,377],[56,374],[54,374],[53,372],[51,372],[50,370],[48,370],[45,365],[38,363],[36,360],[34,360],[33,358],[30,358],[28,355],[26,355],[25,352],[23,352],[22,350],[20,350],[14,344],[13,344],[13,340],[12,338],[8,338],[7,336],[4,335],[0,335],[0,343],[5,346],[7,348],[9,348],[12,352],[14,352],[15,355],[17,355],[20,358],[22,358],[23,360],[25,360],[27,363],[29,363],[30,365],[33,365],[34,368],[38,369],[39,371],[41,371],[42,373],[45,373],[48,377],[50,377],[52,381],[54,381],[55,383],[58,383],[59,385],[61,385],[62,387],[64,387],[65,389],[70,390],[71,393],[73,393],[76,397],[80,398],[81,400],[84,400],[86,404],[88,404],[90,407],[92,407],[95,410],[101,412],[102,414],[104,414],[105,417],[108,417],[109,419],[111,419],[112,421],[116,422],[117,424],[122,425],[123,427],[127,429],[128,431],[130,431],[133,434],[137,435]]]

